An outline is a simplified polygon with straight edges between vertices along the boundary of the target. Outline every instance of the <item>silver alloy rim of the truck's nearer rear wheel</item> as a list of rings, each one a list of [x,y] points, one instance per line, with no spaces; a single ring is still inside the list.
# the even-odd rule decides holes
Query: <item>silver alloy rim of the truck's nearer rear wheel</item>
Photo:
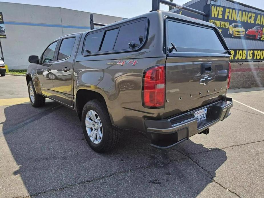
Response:
[[[85,117],[85,126],[90,140],[94,144],[99,144],[103,137],[103,128],[102,122],[95,111],[90,110],[87,112]]]

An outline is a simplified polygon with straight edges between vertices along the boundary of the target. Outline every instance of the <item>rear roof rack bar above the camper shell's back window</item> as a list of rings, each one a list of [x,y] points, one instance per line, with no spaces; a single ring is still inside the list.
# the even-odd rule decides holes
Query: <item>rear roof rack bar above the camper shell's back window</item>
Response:
[[[186,10],[186,11],[189,11],[189,12],[192,12],[192,13],[196,13],[196,14],[199,14],[199,15],[203,15],[205,17],[208,16],[207,13],[205,12],[201,12],[199,10],[196,10],[196,9],[192,9],[190,7],[186,7],[184,5],[179,5],[177,3],[172,3],[170,1],[166,1],[166,0],[152,0],[152,11],[157,11],[160,9],[160,3],[164,4],[164,5],[168,5],[168,6],[172,6],[172,7],[175,7],[175,8],[179,8],[179,9],[182,9],[182,10]]]

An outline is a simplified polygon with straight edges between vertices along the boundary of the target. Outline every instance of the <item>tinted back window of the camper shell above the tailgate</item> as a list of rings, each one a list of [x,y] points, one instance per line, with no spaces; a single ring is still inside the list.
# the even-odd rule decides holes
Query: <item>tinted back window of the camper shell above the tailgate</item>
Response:
[[[218,32],[207,26],[167,19],[167,49],[173,43],[178,52],[224,53]]]

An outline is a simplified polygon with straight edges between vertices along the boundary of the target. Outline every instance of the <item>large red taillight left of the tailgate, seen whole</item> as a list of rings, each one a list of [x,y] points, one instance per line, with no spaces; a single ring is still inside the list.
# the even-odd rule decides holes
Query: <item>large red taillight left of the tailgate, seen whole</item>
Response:
[[[165,104],[165,66],[155,66],[143,73],[142,105],[146,108],[161,108]]]

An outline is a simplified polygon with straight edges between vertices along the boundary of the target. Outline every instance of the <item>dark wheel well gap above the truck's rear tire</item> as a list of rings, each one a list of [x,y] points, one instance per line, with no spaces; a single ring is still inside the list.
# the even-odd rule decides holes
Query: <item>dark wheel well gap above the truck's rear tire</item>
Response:
[[[91,90],[78,90],[75,96],[75,104],[76,104],[76,112],[80,120],[82,120],[82,109],[86,102],[94,99],[100,99],[106,105],[104,97],[98,92],[94,92]]]

